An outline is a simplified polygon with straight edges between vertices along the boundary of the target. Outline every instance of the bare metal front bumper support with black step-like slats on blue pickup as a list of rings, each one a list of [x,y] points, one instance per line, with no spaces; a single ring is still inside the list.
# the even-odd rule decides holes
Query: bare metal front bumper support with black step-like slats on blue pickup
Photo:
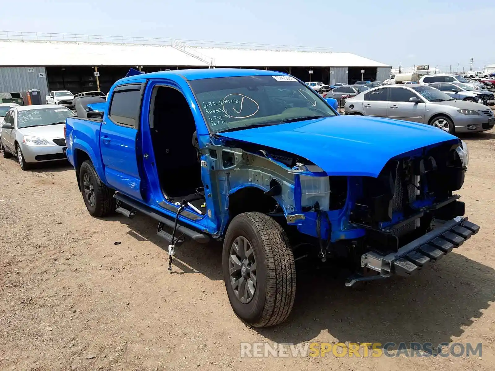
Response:
[[[468,222],[466,217],[456,217],[402,246],[396,253],[382,255],[370,251],[361,255],[361,267],[377,271],[384,278],[408,277],[428,263],[441,259],[479,230],[480,227]]]

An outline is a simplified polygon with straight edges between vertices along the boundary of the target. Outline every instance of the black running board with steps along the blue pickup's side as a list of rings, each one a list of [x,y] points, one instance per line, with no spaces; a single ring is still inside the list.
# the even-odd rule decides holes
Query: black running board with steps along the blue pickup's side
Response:
[[[161,214],[159,211],[153,210],[152,208],[150,208],[146,205],[143,205],[143,204],[133,200],[132,198],[130,198],[130,197],[128,197],[122,193],[116,192],[113,195],[113,197],[116,200],[120,201],[122,204],[130,206],[133,210],[140,211],[143,214],[148,215],[149,217],[157,220],[158,222],[160,222],[160,224],[167,226],[169,228],[172,228],[172,229],[174,228],[174,222],[175,221],[172,220],[170,217],[165,216],[164,214]],[[120,206],[120,208],[122,208],[122,206]],[[125,209],[125,210],[129,211],[127,209]],[[117,212],[120,212],[123,215],[127,214],[127,213],[124,214],[121,211],[117,211]],[[131,213],[131,211],[129,211],[129,214],[130,213]],[[161,229],[159,229],[158,232],[163,232],[163,233],[158,233],[158,235],[160,237],[165,238],[165,239],[169,239],[171,237],[171,235],[169,233],[166,233],[165,231],[162,231]],[[210,237],[208,234],[204,234],[204,233],[195,231],[193,229],[190,229],[189,227],[182,224],[180,221],[177,222],[176,233],[177,233],[177,235],[184,234],[184,235],[188,236],[189,238],[195,240],[198,243],[206,243],[210,240]]]

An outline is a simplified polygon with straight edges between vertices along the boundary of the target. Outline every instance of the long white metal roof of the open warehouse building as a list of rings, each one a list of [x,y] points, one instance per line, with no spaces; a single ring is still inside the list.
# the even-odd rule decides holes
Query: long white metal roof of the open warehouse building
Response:
[[[352,53],[316,47],[0,31],[0,66],[138,65],[391,67]]]

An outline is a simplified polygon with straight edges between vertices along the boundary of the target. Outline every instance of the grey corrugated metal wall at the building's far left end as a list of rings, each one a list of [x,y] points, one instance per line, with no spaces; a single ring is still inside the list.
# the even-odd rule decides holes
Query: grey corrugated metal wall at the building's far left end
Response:
[[[21,92],[27,103],[26,91],[31,89],[40,90],[45,103],[49,93],[45,67],[0,67],[0,93]]]

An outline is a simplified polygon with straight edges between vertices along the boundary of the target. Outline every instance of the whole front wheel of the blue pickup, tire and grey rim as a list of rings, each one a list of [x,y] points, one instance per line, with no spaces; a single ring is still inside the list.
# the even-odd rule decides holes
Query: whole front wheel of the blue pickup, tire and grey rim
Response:
[[[225,288],[236,315],[249,325],[284,322],[296,296],[296,266],[286,232],[269,216],[236,216],[225,234]]]

